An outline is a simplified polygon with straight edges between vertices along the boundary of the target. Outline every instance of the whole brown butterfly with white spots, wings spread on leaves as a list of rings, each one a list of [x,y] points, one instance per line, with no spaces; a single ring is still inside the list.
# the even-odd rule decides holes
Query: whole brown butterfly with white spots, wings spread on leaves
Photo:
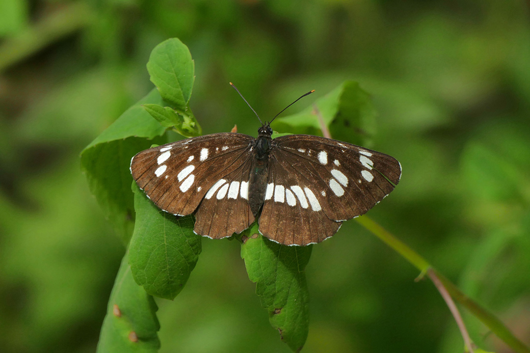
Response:
[[[222,239],[258,219],[259,232],[284,245],[328,239],[400,181],[401,164],[389,155],[319,136],[271,135],[267,122],[257,138],[218,133],[149,148],[133,157],[131,174],[158,208],[195,213],[196,234]]]

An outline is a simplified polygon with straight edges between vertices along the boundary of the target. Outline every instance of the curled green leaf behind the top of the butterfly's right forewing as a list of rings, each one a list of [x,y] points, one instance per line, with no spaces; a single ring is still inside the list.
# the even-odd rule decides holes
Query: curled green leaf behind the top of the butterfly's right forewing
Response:
[[[367,145],[375,133],[376,112],[372,100],[354,81],[346,81],[302,112],[277,118],[273,127],[294,134],[322,136],[319,115],[334,139]]]

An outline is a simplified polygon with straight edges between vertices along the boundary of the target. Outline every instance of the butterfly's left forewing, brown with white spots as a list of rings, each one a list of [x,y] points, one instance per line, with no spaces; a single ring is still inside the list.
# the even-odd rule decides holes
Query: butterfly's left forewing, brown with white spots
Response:
[[[156,206],[189,215],[216,182],[245,165],[254,140],[220,133],[149,148],[133,157],[131,173]]]

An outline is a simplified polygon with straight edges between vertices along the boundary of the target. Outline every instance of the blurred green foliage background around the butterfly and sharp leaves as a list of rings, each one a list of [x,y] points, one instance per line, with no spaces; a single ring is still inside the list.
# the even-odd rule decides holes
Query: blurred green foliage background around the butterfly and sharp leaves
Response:
[[[0,350],[92,352],[124,253],[79,154],[153,85],[179,37],[205,134],[255,135],[345,80],[378,110],[366,146],[403,165],[369,216],[530,344],[530,3],[523,0],[1,0]],[[187,286],[157,300],[161,352],[288,352],[240,245],[204,239]],[[314,246],[304,352],[460,352],[443,299],[354,221]],[[482,348],[509,352],[472,316]]]

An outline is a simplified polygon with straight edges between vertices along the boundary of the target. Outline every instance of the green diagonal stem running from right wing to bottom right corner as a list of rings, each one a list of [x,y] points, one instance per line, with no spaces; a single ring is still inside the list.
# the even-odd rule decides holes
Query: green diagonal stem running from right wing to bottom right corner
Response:
[[[427,260],[423,259],[418,253],[409,248],[405,243],[396,238],[393,234],[386,231],[385,228],[374,222],[374,220],[362,216],[356,218],[357,222],[365,227],[370,233],[381,239],[386,245],[401,254],[407,261],[422,273],[433,271],[440,279],[441,283],[447,289],[447,292],[467,310],[469,310],[476,318],[478,318],[484,325],[504,341],[511,349],[517,353],[530,353],[530,348],[526,347],[523,342],[517,339],[513,333],[508,330],[504,323],[502,323],[495,315],[480,306],[473,299],[467,297],[460,291],[451,281],[441,275],[438,271],[432,268]]]

